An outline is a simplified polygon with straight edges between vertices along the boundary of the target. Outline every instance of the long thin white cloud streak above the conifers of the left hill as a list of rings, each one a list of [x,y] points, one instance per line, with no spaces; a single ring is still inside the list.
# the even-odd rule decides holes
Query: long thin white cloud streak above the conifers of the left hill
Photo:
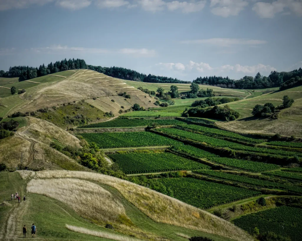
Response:
[[[49,47],[31,48],[31,51],[37,53],[48,53],[48,54],[61,54],[62,52],[78,52],[78,53],[89,53],[89,54],[123,54],[131,55],[134,57],[152,57],[156,55],[154,50],[149,49],[102,49],[102,48],[85,48],[85,47],[69,47],[62,45],[52,45]]]

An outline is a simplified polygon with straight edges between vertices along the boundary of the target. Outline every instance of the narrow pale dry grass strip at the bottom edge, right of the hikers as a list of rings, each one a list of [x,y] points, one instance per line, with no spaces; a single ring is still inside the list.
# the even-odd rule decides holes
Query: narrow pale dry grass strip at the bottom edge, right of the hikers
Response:
[[[106,238],[106,239],[113,239],[113,240],[117,240],[117,241],[140,241],[140,240],[142,240],[142,239],[132,238],[129,236],[122,236],[122,235],[115,234],[115,233],[107,233],[107,232],[90,230],[90,229],[82,228],[82,227],[76,227],[76,226],[72,226],[72,225],[68,225],[68,224],[66,224],[66,228],[73,232],[84,233],[84,234],[88,234],[91,236],[96,236],[96,237]]]

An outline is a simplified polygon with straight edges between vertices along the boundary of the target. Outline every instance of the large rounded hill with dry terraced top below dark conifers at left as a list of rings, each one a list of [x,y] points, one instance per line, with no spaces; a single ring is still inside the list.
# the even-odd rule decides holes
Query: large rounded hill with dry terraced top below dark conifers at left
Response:
[[[4,89],[2,90],[3,98],[0,99],[0,116],[2,117],[16,111],[31,112],[82,99],[100,108],[101,111],[113,111],[115,115],[118,115],[118,111],[122,109],[121,106],[127,109],[138,103],[148,108],[154,107],[155,101],[149,95],[121,80],[92,70],[63,71],[14,83],[8,83],[7,79],[3,80],[3,87],[10,88],[12,84],[17,89],[26,89],[26,92],[21,95],[8,95],[9,89],[1,88],[1,90]],[[125,99],[118,96],[119,92],[127,92],[131,98]],[[0,97],[2,97],[1,92]]]

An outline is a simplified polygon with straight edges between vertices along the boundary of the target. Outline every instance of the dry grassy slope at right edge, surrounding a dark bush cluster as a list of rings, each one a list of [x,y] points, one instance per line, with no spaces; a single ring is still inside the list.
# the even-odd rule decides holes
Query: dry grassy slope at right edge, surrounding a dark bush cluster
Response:
[[[278,119],[252,117],[252,109],[255,105],[265,103],[272,103],[275,106],[282,105],[284,95],[295,100],[290,108],[281,110],[278,114]],[[286,136],[302,136],[302,86],[274,92],[270,94],[261,95],[255,98],[246,100],[239,100],[228,103],[232,109],[240,113],[240,117],[236,121],[230,122],[216,122],[220,127],[231,131],[238,131],[242,133],[280,133]]]

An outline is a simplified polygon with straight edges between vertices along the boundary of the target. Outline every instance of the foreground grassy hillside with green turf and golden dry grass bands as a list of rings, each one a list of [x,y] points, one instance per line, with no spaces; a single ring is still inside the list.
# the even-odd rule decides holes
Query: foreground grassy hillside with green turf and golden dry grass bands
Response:
[[[11,180],[13,190],[27,196],[25,204],[8,201],[10,206],[0,206],[1,227],[6,230],[11,225],[10,231],[17,236],[22,234],[14,227],[34,222],[37,237],[42,240],[94,240],[93,235],[88,235],[92,231],[98,235],[114,234],[114,240],[130,240],[120,239],[130,238],[128,235],[145,240],[185,240],[177,233],[215,241],[253,240],[233,224],[206,211],[114,177],[67,171],[20,174],[24,180],[16,172],[0,173],[4,180],[0,184],[2,196],[10,196]],[[31,179],[34,176],[37,179]],[[67,195],[62,195],[62,191]],[[10,224],[9,217],[16,213],[22,214],[20,219]],[[113,225],[114,231],[105,229],[106,223]],[[66,229],[66,224],[75,227]],[[5,231],[3,234],[7,235]]]

